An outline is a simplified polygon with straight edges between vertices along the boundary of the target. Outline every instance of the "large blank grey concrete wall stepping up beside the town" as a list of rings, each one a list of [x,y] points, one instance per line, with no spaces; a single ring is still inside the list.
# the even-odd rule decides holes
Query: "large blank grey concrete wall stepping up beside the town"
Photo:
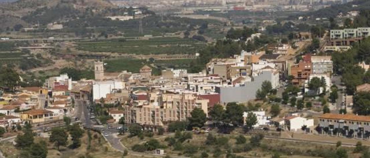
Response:
[[[256,76],[252,82],[245,83],[243,87],[216,87],[216,92],[220,94],[221,103],[247,102],[256,99],[256,92],[261,88],[262,82],[272,80],[272,72],[265,71]]]

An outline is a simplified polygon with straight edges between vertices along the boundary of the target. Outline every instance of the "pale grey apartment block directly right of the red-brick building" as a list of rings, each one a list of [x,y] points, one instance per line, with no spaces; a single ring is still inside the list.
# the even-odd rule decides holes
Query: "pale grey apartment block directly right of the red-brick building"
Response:
[[[311,56],[312,73],[314,74],[332,74],[333,61],[332,56]]]

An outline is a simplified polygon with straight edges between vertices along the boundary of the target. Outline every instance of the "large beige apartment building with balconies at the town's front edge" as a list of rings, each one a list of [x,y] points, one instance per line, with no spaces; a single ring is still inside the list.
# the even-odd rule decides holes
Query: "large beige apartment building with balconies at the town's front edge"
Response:
[[[158,126],[166,127],[172,121],[185,121],[195,108],[201,108],[208,113],[209,100],[200,99],[192,93],[152,95],[149,97],[149,104],[124,106],[126,123],[137,123],[156,130]],[[154,96],[158,96],[157,99]]]

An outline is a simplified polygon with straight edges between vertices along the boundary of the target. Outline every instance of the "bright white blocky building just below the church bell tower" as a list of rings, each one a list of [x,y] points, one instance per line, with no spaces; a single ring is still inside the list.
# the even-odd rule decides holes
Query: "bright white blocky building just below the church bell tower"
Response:
[[[118,80],[95,81],[92,85],[92,98],[94,100],[106,98],[107,94],[123,89],[123,82]]]

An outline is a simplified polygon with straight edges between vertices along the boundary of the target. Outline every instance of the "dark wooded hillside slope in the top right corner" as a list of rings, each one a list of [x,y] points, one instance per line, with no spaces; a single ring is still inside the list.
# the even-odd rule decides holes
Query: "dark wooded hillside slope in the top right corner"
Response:
[[[348,11],[360,11],[370,9],[370,0],[354,0],[345,4],[335,4],[327,8],[322,8],[309,13],[302,13],[290,18],[296,18],[298,16],[311,16],[311,17],[336,17],[339,13],[347,13]]]

